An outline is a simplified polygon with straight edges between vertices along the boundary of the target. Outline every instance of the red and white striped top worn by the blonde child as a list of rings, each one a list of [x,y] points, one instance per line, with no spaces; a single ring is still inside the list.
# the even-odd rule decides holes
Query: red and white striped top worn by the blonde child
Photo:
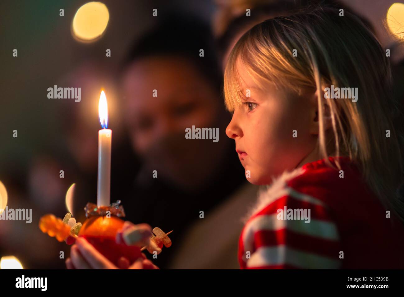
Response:
[[[386,217],[349,158],[338,161],[342,171],[318,160],[261,192],[240,235],[240,268],[404,268],[403,224],[392,210]]]

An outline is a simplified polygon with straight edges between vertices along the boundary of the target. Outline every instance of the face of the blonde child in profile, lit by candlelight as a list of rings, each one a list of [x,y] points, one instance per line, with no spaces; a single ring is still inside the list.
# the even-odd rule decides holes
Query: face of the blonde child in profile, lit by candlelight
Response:
[[[245,95],[249,89],[250,97],[235,108],[226,134],[236,141],[241,164],[250,171],[247,180],[268,184],[272,177],[301,165],[314,151],[318,134],[315,96],[299,97],[270,84],[260,90],[240,59],[236,67],[242,91]],[[294,130],[297,137],[293,137]]]

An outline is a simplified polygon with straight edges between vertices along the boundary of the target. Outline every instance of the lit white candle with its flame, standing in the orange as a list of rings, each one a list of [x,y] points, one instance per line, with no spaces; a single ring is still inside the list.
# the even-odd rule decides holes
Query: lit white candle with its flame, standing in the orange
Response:
[[[98,113],[102,129],[98,131],[97,206],[109,206],[112,130],[107,129],[108,107],[104,91],[101,91]]]

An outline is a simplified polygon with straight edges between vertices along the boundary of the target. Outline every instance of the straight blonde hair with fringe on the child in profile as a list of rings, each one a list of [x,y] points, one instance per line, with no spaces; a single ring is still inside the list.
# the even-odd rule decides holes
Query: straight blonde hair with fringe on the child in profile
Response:
[[[233,111],[241,104],[240,59],[259,85],[271,83],[297,94],[318,90],[318,149],[349,156],[387,210],[404,221],[398,194],[403,165],[392,113],[391,71],[386,53],[358,17],[339,9],[316,7],[288,17],[276,17],[250,29],[234,46],[224,76],[225,103]],[[297,56],[292,55],[297,49]],[[358,101],[324,98],[324,88],[358,87]],[[324,129],[324,110],[330,108],[332,133]],[[391,137],[387,138],[389,130]],[[328,152],[329,142],[333,152]]]

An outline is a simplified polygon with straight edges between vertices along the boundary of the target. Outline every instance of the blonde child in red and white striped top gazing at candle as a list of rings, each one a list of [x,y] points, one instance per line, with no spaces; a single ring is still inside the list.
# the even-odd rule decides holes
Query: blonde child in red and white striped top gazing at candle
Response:
[[[404,267],[389,57],[357,17],[323,7],[256,25],[224,91],[247,180],[271,184],[247,216],[241,268]]]

